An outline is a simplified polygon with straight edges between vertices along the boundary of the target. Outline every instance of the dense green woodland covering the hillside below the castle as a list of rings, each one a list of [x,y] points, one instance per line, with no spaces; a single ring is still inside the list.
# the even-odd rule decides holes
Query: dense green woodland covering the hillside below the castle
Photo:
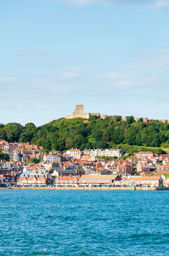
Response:
[[[143,119],[135,122],[133,116],[122,121],[120,116],[106,119],[54,120],[36,127],[33,123],[22,126],[18,123],[0,124],[0,139],[8,142],[29,142],[43,146],[45,151],[65,151],[69,148],[117,148],[132,151],[127,145],[146,147],[169,147],[169,124],[158,120]],[[133,149],[138,151],[137,148]]]

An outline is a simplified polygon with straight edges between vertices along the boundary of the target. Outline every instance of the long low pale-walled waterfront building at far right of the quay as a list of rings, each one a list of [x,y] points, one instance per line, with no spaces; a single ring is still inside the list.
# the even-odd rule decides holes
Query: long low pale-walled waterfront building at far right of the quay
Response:
[[[163,185],[162,177],[130,177],[130,185],[150,185],[150,186],[159,186]]]

